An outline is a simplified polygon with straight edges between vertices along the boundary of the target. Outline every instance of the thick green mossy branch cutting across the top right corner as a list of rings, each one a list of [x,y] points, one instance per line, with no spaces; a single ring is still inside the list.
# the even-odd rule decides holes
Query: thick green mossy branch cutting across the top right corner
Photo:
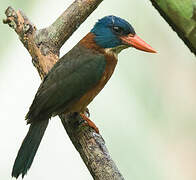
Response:
[[[196,55],[196,2],[150,0],[187,47]]]

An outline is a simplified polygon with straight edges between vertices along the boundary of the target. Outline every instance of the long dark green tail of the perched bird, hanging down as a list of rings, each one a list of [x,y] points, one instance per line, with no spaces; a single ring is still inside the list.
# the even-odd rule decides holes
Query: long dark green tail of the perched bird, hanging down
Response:
[[[48,126],[48,121],[49,120],[35,121],[30,125],[29,131],[22,142],[14,162],[12,177],[18,178],[18,176],[22,174],[23,178],[31,167],[39,144]]]

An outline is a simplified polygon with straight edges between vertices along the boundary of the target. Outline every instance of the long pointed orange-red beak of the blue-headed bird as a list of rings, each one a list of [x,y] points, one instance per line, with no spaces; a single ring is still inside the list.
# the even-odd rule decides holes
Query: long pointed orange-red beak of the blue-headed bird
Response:
[[[138,35],[129,34],[128,36],[121,36],[120,37],[122,42],[126,45],[132,46],[136,49],[156,53],[156,51],[145,41],[143,41]]]

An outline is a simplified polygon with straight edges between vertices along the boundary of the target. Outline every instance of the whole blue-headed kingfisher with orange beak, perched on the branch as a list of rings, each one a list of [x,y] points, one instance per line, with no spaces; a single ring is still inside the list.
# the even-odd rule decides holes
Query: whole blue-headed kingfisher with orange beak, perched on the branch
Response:
[[[67,54],[51,68],[40,84],[25,117],[30,124],[18,151],[12,177],[25,176],[52,116],[79,113],[89,126],[98,128],[85,115],[114,72],[118,54],[126,48],[156,53],[126,20],[109,15],[99,19]]]

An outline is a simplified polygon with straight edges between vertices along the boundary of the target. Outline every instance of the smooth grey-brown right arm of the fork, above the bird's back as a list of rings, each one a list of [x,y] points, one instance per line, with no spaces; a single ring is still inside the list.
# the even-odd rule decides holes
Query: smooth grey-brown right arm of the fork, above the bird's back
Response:
[[[42,29],[46,43],[58,49],[82,24],[102,0],[77,0],[48,28]],[[43,38],[42,38],[43,39]]]

